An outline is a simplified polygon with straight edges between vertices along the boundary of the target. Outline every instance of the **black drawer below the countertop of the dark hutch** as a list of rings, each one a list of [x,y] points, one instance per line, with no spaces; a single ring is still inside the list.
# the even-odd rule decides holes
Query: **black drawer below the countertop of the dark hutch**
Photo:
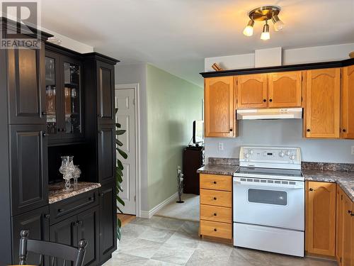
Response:
[[[50,224],[69,218],[98,205],[98,189],[90,190],[50,204]]]

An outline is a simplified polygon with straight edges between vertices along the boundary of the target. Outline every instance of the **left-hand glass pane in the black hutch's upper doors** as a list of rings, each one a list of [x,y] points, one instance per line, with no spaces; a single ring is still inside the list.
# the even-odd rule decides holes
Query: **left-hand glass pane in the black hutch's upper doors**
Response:
[[[57,133],[57,88],[55,84],[55,59],[45,57],[45,106],[47,112],[47,133]]]

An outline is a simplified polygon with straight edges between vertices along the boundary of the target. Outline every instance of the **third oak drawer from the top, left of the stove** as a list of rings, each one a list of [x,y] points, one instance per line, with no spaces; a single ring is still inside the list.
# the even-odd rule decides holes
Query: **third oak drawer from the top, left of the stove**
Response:
[[[232,223],[232,208],[200,205],[200,219]]]

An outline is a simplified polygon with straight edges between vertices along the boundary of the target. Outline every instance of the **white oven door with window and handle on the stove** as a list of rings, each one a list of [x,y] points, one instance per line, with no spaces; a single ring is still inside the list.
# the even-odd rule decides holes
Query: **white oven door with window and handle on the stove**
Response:
[[[234,222],[304,231],[304,182],[234,177]]]

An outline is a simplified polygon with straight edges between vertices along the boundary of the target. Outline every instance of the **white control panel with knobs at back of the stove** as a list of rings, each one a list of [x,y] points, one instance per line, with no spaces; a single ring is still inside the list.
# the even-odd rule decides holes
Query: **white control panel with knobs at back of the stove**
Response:
[[[241,146],[240,166],[301,169],[301,152],[296,147]]]

